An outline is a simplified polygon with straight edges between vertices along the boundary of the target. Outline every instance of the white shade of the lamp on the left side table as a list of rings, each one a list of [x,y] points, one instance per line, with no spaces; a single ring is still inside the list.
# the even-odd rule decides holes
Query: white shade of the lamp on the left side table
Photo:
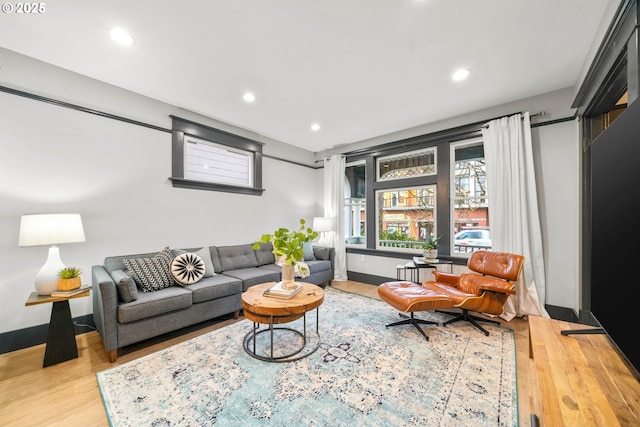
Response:
[[[18,246],[84,242],[80,214],[22,215]]]

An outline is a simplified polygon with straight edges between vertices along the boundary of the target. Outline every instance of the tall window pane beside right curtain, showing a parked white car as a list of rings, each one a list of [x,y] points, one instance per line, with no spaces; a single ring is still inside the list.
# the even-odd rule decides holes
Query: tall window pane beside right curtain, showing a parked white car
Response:
[[[491,234],[482,140],[457,143],[451,149],[452,254],[489,249]]]

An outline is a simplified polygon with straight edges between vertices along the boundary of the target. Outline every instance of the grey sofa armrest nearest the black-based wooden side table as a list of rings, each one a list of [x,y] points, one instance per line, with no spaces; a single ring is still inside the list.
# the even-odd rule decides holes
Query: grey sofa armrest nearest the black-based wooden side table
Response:
[[[111,275],[101,265],[91,268],[93,321],[107,352],[118,348],[118,290]]]

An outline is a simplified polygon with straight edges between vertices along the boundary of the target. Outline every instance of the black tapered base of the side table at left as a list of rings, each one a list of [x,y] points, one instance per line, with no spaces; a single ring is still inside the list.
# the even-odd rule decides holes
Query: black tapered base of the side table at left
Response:
[[[51,309],[47,347],[42,366],[46,368],[76,357],[78,357],[78,345],[73,330],[69,301],[55,301]]]

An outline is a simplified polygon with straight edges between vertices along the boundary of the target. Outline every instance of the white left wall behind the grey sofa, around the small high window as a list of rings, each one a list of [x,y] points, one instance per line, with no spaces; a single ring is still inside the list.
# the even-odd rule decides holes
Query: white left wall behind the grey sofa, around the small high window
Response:
[[[1,51],[0,84],[170,128],[169,114],[198,116],[77,74]],[[20,69],[22,68],[22,73]],[[25,77],[27,76],[27,77]],[[116,96],[118,95],[118,96]],[[205,121],[205,120],[203,120]],[[208,119],[205,124],[252,137]],[[256,137],[265,154],[312,164],[296,147]],[[263,160],[262,196],[173,188],[171,134],[0,92],[0,333],[46,324],[51,305],[25,307],[46,247],[18,247],[20,216],[78,212],[87,241],[61,245],[84,269],[105,256],[251,243],[280,226],[321,215],[318,170]],[[73,316],[91,299],[71,301]]]

